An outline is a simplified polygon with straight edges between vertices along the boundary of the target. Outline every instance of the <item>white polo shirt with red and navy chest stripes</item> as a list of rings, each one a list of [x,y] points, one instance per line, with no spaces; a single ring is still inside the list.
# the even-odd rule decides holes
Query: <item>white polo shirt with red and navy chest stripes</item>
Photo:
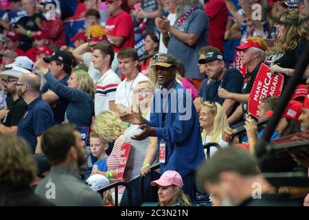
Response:
[[[121,82],[122,80],[112,69],[108,69],[98,80],[95,88],[95,116],[102,111],[110,110],[109,102],[115,100],[116,89]]]

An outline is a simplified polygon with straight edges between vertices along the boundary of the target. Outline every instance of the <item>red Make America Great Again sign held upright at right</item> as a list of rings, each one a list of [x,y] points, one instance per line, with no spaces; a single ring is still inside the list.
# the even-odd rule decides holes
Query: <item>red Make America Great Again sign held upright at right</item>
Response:
[[[248,112],[258,118],[260,100],[267,96],[280,96],[284,85],[282,74],[271,74],[271,69],[262,63],[256,76],[248,101]]]

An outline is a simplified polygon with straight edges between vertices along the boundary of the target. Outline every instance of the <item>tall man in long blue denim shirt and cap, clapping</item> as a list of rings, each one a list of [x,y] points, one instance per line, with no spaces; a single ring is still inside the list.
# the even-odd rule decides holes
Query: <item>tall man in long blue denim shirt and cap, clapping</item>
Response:
[[[139,124],[143,130],[133,140],[158,137],[161,173],[176,170],[183,178],[183,191],[194,199],[194,170],[205,159],[198,114],[186,89],[176,82],[176,58],[170,54],[153,56],[155,74],[162,86],[152,101],[150,121],[141,113],[127,113],[120,118]],[[150,104],[150,103],[148,103]],[[175,106],[176,105],[176,106]],[[152,164],[157,153],[148,151],[144,164]],[[123,201],[122,201],[123,202]]]

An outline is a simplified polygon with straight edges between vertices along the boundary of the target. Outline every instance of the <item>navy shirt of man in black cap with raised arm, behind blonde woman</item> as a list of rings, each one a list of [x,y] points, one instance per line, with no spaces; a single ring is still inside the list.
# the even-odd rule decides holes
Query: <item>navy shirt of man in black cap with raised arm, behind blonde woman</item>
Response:
[[[67,80],[69,79],[69,75],[65,76],[60,80],[60,83],[63,85],[67,85]],[[49,83],[46,83],[41,90],[41,94],[44,94],[48,90],[54,91]],[[56,94],[56,92],[54,91]],[[67,110],[67,105],[69,104],[69,100],[66,98],[59,96],[59,100],[56,103],[52,104],[52,111],[54,113],[54,122],[53,124],[60,124],[65,120],[65,110]]]

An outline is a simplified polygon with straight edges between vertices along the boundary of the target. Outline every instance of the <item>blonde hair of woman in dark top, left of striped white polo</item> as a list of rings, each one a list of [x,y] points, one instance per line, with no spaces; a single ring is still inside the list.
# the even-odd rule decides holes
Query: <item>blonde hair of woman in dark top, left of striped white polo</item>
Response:
[[[94,96],[94,84],[93,79],[87,72],[85,72],[83,69],[73,69],[72,73],[76,74],[76,78],[78,80],[78,83],[80,83],[79,88],[82,91],[86,91],[87,94],[89,94],[91,97]]]

